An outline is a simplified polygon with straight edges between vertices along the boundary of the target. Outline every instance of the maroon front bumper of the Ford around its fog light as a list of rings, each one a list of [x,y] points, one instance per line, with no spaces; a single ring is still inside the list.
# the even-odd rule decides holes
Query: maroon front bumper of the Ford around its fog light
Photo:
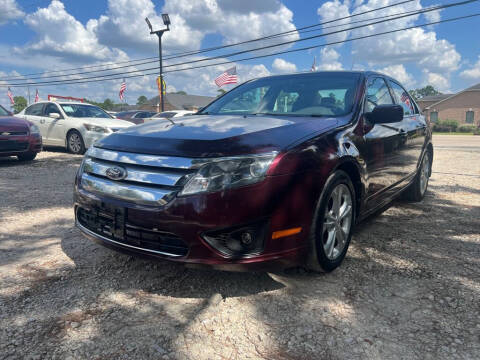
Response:
[[[219,193],[176,197],[164,205],[147,206],[135,201],[106,197],[84,189],[77,178],[75,186],[75,217],[80,230],[90,239],[104,246],[135,255],[167,259],[188,265],[232,270],[266,270],[290,267],[304,263],[308,248],[308,233],[314,202],[313,191],[305,176],[282,175],[267,177],[263,182]],[[165,249],[136,246],[118,241],[82,224],[79,209],[97,211],[98,208],[124,209],[123,218],[128,229],[140,229],[148,234],[173,234],[185,244],[184,253]],[[96,210],[95,210],[96,209]],[[94,215],[96,216],[96,215]],[[262,251],[248,257],[228,256],[205,240],[205,233],[218,229],[238,227],[241,224],[265,224]],[[299,234],[272,239],[272,233],[287,228],[301,227]],[[158,238],[158,241],[163,241]],[[141,243],[139,243],[141,244]],[[158,249],[157,249],[158,250]]]

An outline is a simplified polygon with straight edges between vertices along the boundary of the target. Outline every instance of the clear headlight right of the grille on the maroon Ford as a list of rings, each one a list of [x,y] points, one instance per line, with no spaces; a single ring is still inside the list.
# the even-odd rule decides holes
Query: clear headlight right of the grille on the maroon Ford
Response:
[[[275,156],[277,152],[205,162],[187,180],[180,195],[213,192],[259,182],[265,177]]]

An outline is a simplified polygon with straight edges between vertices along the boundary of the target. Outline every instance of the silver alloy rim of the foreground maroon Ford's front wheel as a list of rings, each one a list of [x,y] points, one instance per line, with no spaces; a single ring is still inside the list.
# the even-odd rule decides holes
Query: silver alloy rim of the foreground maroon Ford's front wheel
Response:
[[[352,194],[345,184],[338,184],[328,199],[323,222],[323,249],[329,260],[338,258],[345,249],[352,219]]]

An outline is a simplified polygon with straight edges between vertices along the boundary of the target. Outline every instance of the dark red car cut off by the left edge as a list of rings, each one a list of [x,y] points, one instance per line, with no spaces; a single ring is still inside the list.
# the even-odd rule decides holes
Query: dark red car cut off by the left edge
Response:
[[[38,127],[14,117],[0,105],[0,157],[16,156],[21,161],[30,161],[40,151],[42,137]]]

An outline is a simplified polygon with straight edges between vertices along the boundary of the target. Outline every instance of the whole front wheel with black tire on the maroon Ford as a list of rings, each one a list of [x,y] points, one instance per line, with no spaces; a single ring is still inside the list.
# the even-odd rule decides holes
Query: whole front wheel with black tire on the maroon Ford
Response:
[[[310,234],[311,259],[315,271],[330,272],[342,263],[350,245],[356,211],[355,190],[344,171],[328,178],[320,196]]]

